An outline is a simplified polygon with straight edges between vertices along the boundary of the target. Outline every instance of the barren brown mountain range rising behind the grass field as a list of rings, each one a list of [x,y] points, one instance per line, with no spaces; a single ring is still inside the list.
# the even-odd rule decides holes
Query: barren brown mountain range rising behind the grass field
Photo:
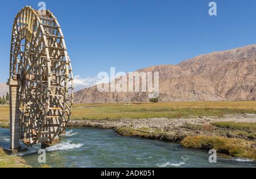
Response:
[[[142,71],[159,72],[159,101],[256,100],[256,45],[138,70]],[[97,86],[75,93],[75,103],[146,101],[147,92],[100,92]]]

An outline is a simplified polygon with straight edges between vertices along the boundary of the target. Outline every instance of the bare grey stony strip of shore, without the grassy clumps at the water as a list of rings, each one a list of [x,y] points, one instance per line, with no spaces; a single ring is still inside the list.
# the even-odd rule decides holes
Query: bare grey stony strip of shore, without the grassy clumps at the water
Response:
[[[68,127],[97,127],[102,129],[113,129],[122,134],[119,129],[130,127],[133,130],[144,131],[145,133],[163,134],[163,140],[180,142],[187,136],[207,135],[228,138],[241,138],[255,140],[248,135],[238,133],[237,130],[217,127],[212,125],[214,122],[256,122],[256,116],[252,114],[226,115],[224,118],[199,117],[199,118],[144,118],[129,119],[122,118],[110,120],[71,120]],[[144,130],[143,130],[144,129]],[[168,138],[166,136],[168,135]],[[161,139],[161,136],[155,137]]]

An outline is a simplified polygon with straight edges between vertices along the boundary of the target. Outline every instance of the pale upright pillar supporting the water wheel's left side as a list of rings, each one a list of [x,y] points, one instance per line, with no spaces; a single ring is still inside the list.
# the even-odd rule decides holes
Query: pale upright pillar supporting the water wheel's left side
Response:
[[[9,79],[10,89],[10,149],[19,149],[19,85],[17,79]]]

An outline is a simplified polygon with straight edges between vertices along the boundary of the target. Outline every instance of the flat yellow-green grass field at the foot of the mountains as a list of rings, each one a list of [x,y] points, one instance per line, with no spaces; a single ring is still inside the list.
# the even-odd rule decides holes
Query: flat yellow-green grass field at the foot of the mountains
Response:
[[[199,117],[224,114],[256,114],[256,101],[133,103],[133,104],[79,104],[73,105],[74,119]],[[9,105],[0,105],[0,123],[9,122]]]

